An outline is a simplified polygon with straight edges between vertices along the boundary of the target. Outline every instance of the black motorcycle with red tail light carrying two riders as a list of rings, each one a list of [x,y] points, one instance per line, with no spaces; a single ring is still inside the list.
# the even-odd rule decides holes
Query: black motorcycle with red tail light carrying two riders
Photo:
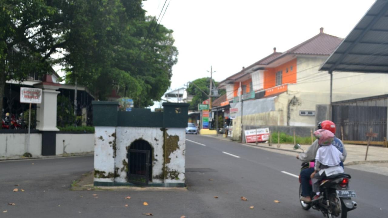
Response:
[[[296,149],[300,149],[300,145],[296,144]],[[301,170],[306,168],[314,168],[314,162],[303,162]],[[315,210],[321,211],[324,216],[328,218],[340,217],[346,218],[348,211],[357,208],[357,203],[352,201],[352,197],[357,197],[354,190],[349,190],[349,182],[352,178],[348,174],[336,174],[327,176],[322,181],[320,181],[319,191],[321,199],[313,200],[309,203],[300,201],[300,204],[303,209],[308,210],[313,208]],[[302,184],[299,176],[299,198],[302,194]],[[311,184],[311,180],[310,180]],[[310,196],[311,198],[314,196]],[[298,198],[298,199],[299,199]]]

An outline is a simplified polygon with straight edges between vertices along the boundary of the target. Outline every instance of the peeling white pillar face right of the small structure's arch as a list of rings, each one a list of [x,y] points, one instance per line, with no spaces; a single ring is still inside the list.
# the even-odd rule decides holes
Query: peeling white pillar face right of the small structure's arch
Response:
[[[186,132],[184,128],[167,128],[166,141],[171,142],[172,152],[168,155],[169,163],[166,163],[167,178],[165,183],[184,183],[185,182],[185,151],[186,151]],[[170,137],[171,140],[169,140]],[[177,141],[176,141],[177,140]],[[177,143],[176,145],[174,145]],[[175,149],[176,148],[176,149]],[[173,150],[175,149],[175,150]]]

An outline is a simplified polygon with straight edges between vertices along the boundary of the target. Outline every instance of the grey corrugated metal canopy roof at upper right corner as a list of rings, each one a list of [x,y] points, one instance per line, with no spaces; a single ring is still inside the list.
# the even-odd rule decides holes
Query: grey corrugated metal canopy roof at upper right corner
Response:
[[[320,70],[388,73],[388,1],[376,0]]]

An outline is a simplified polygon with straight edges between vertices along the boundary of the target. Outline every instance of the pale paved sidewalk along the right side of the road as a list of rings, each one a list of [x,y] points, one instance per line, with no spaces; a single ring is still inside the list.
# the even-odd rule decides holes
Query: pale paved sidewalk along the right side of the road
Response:
[[[205,135],[208,137],[218,138],[220,140],[230,140],[230,138],[223,138],[222,135]],[[236,142],[239,143],[239,142]],[[269,146],[268,143],[242,143],[245,145],[251,145],[254,147],[260,147],[267,151],[277,152],[281,154],[296,156],[296,154],[302,152],[302,150],[294,150],[294,145],[292,144],[272,144]],[[310,145],[301,145],[301,148],[304,151],[307,151]],[[388,148],[380,146],[369,146],[367,161],[365,161],[365,152],[366,145],[352,145],[345,144],[346,152],[348,156],[346,157],[345,166],[354,165],[354,164],[363,164],[363,163],[388,163]]]

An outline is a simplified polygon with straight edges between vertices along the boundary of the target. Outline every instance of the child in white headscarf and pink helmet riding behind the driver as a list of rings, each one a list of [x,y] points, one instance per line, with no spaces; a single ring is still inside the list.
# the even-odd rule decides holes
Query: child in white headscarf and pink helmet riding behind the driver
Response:
[[[329,130],[320,129],[315,131],[314,135],[318,138],[318,144],[320,147],[317,151],[317,155],[315,156],[315,170],[310,176],[313,183],[313,192],[316,193],[313,197],[313,201],[321,198],[319,192],[320,180],[326,176],[344,172],[343,168],[340,166],[344,156],[332,144],[334,134]]]

